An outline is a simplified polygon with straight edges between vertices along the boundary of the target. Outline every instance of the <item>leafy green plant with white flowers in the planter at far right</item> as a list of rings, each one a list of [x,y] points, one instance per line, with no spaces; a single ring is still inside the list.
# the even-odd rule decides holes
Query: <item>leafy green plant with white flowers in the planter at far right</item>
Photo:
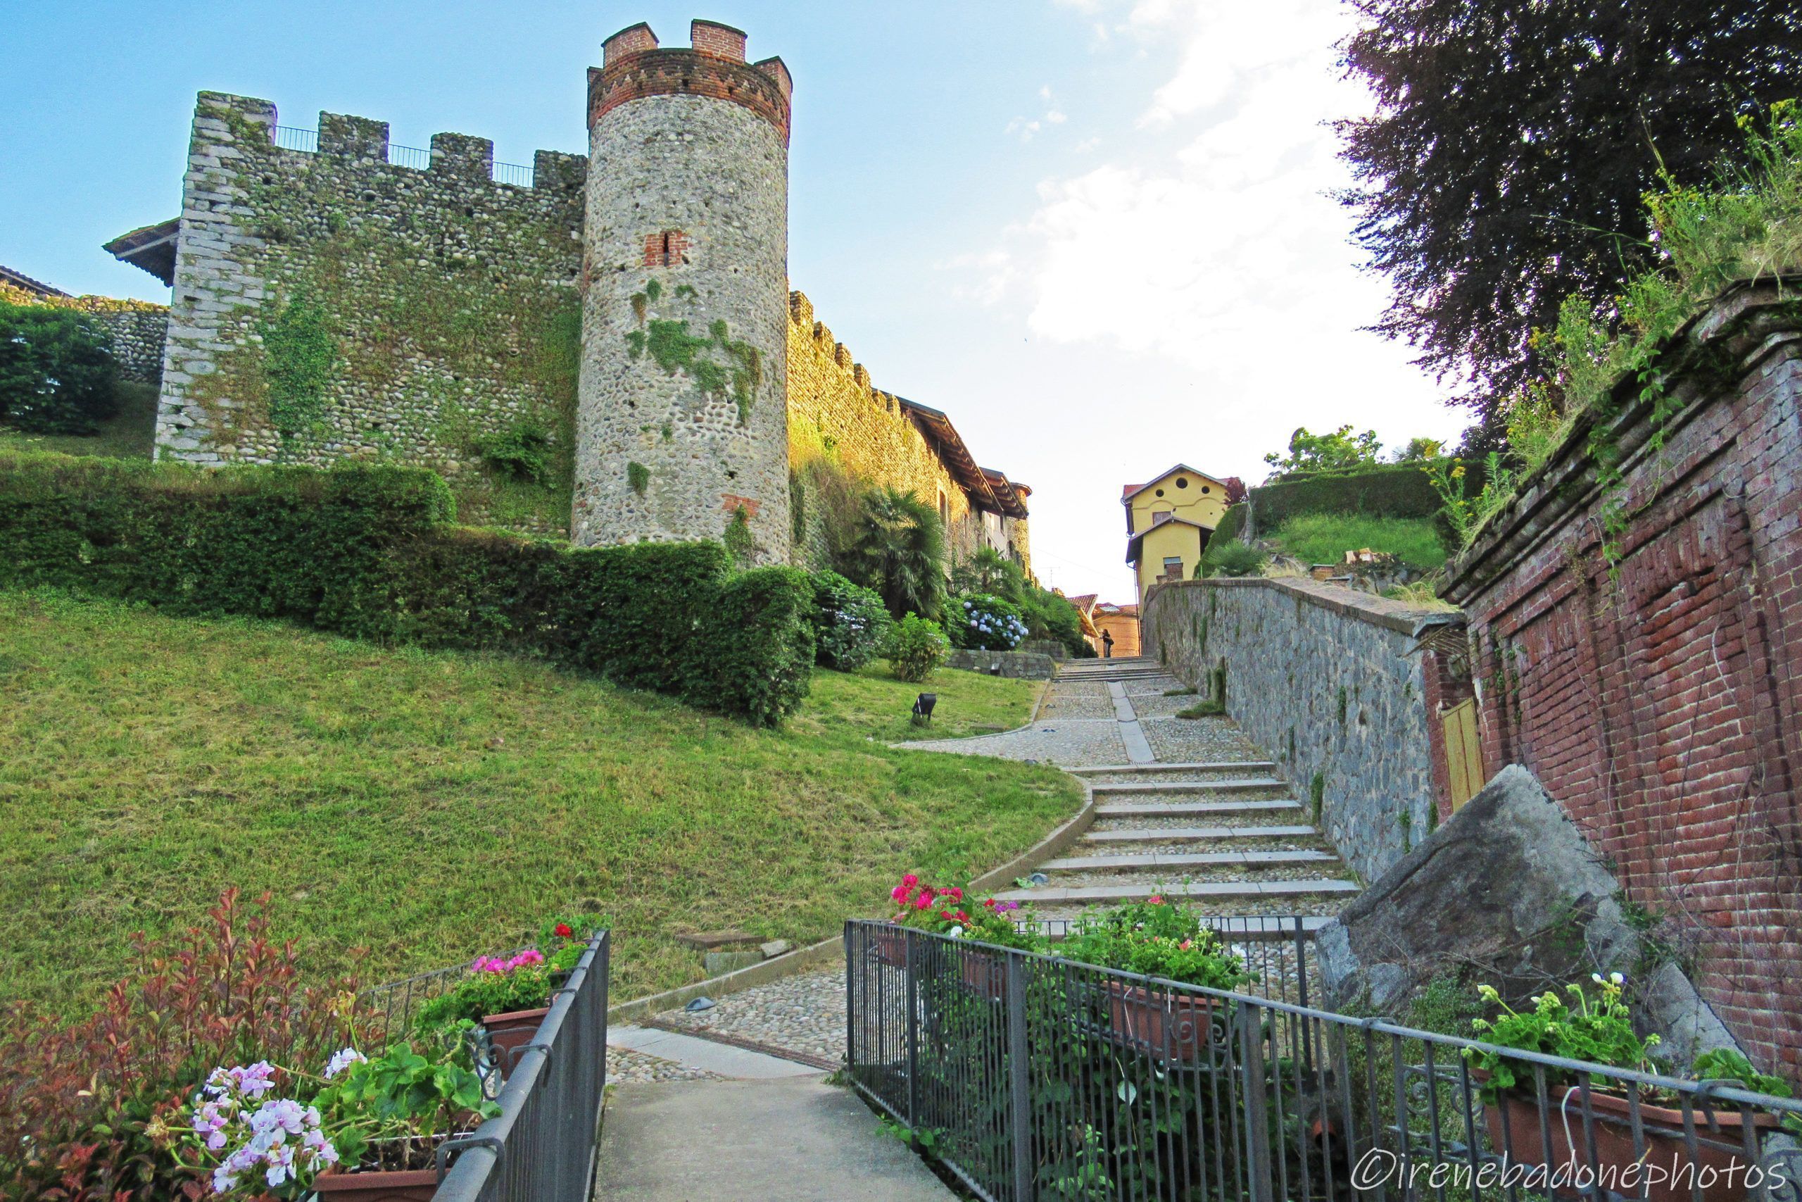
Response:
[[[1476,1018],[1470,1025],[1478,1038],[1497,1047],[1526,1052],[1544,1052],[1566,1060],[1586,1060],[1609,1069],[1652,1072],[1652,1049],[1658,1036],[1643,1040],[1633,1031],[1633,1015],[1622,1000],[1625,979],[1620,973],[1591,975],[1597,989],[1591,997],[1580,984],[1570,984],[1564,993],[1548,989],[1532,998],[1534,1007],[1517,1011],[1501,1000],[1494,986],[1478,986],[1478,995],[1497,1007],[1496,1018]],[[1488,1074],[1483,1085],[1487,1097],[1506,1092],[1523,1081],[1521,1063],[1483,1049],[1465,1049],[1465,1058]],[[1568,1074],[1548,1069],[1546,1078],[1564,1083]],[[1528,1074],[1530,1078],[1530,1074]],[[1607,1078],[1591,1074],[1591,1083],[1609,1085]]]

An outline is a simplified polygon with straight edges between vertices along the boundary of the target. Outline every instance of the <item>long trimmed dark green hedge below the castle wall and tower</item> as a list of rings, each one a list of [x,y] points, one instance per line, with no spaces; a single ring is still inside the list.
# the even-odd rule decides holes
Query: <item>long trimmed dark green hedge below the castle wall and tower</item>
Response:
[[[0,454],[0,587],[542,656],[759,724],[807,696],[805,573],[733,575],[714,542],[571,550],[452,512],[423,469]]]

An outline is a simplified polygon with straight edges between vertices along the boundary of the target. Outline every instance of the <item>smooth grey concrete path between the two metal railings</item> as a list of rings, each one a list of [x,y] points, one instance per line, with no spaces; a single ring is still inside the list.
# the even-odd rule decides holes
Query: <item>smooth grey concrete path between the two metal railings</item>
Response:
[[[607,1103],[598,1202],[951,1202],[851,1090],[811,1078],[627,1085]]]

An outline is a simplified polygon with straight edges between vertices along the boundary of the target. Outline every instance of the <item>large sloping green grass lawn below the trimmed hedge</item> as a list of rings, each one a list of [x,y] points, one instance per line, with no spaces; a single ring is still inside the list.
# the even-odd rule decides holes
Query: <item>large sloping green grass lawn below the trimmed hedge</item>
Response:
[[[227,885],[270,890],[317,971],[452,964],[584,908],[613,917],[616,998],[696,980],[674,930],[820,939],[908,869],[982,872],[1070,816],[1056,769],[887,746],[1016,726],[1036,692],[818,672],[759,732],[532,661],[0,593],[0,1000],[77,1006],[133,930]]]

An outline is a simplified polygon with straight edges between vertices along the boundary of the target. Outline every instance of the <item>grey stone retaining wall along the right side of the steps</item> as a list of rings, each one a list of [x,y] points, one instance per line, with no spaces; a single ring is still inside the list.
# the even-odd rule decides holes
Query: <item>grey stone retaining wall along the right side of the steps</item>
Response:
[[[1146,654],[1202,694],[1225,667],[1238,728],[1375,879],[1438,824],[1438,665],[1422,638],[1461,620],[1315,580],[1215,578],[1153,589],[1141,631]]]

